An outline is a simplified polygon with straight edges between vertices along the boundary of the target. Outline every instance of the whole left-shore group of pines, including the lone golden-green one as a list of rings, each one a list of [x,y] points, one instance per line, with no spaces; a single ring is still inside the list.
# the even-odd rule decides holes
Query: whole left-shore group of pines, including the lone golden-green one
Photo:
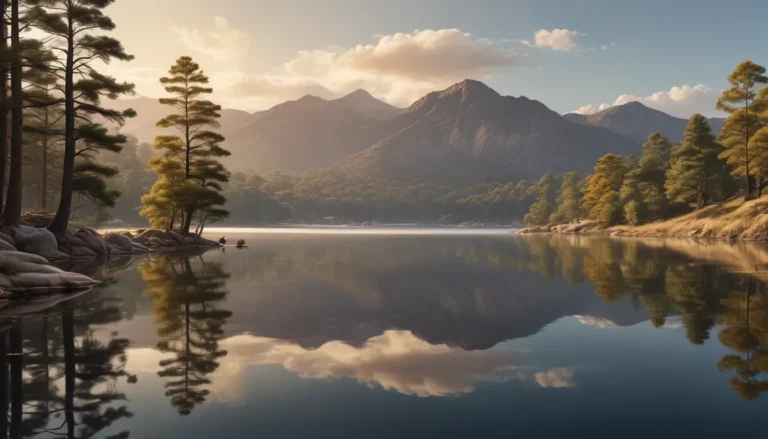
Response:
[[[98,70],[133,59],[109,36],[115,23],[104,11],[115,1],[0,0],[3,226],[18,226],[23,209],[56,207],[48,228],[65,239],[75,218],[98,223],[107,208],[137,216],[144,194],[142,213],[153,226],[189,233],[197,220],[202,233],[206,223],[228,215],[221,192],[229,173],[218,159],[229,153],[213,131],[221,107],[201,98],[212,90],[191,58],[180,58],[160,79],[170,95],[161,103],[173,111],[158,122],[169,130],[155,142],[159,154],[119,133],[133,110],[104,105],[134,90]],[[38,38],[28,37],[33,34]],[[148,162],[156,176],[147,175]],[[123,193],[127,198],[119,201]]]

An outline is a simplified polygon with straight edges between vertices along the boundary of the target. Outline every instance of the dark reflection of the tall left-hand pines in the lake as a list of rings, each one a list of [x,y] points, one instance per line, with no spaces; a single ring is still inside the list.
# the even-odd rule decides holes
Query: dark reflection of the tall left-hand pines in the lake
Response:
[[[99,328],[122,318],[100,291],[4,321],[0,334],[0,437],[125,438],[102,432],[133,414],[120,383],[128,340]]]

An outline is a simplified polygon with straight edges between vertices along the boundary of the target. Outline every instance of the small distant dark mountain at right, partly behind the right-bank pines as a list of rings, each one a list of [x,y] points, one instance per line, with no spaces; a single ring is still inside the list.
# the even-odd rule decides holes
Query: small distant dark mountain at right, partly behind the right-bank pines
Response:
[[[569,113],[563,118],[582,125],[606,128],[641,144],[645,143],[648,135],[655,132],[664,134],[674,142],[679,142],[683,140],[683,132],[688,124],[686,119],[648,108],[640,102],[617,105],[588,116]],[[713,133],[720,131],[723,120],[721,118],[708,119]]]

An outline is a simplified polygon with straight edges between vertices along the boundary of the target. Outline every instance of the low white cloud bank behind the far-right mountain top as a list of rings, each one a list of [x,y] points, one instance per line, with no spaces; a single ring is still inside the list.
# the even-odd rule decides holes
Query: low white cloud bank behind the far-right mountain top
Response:
[[[657,91],[649,96],[636,96],[623,94],[611,103],[589,104],[579,107],[574,113],[593,114],[617,105],[624,105],[628,102],[640,102],[650,108],[671,114],[673,116],[689,118],[694,113],[701,113],[707,116],[717,115],[715,103],[719,93],[704,84],[682,85],[672,87],[667,91]]]

